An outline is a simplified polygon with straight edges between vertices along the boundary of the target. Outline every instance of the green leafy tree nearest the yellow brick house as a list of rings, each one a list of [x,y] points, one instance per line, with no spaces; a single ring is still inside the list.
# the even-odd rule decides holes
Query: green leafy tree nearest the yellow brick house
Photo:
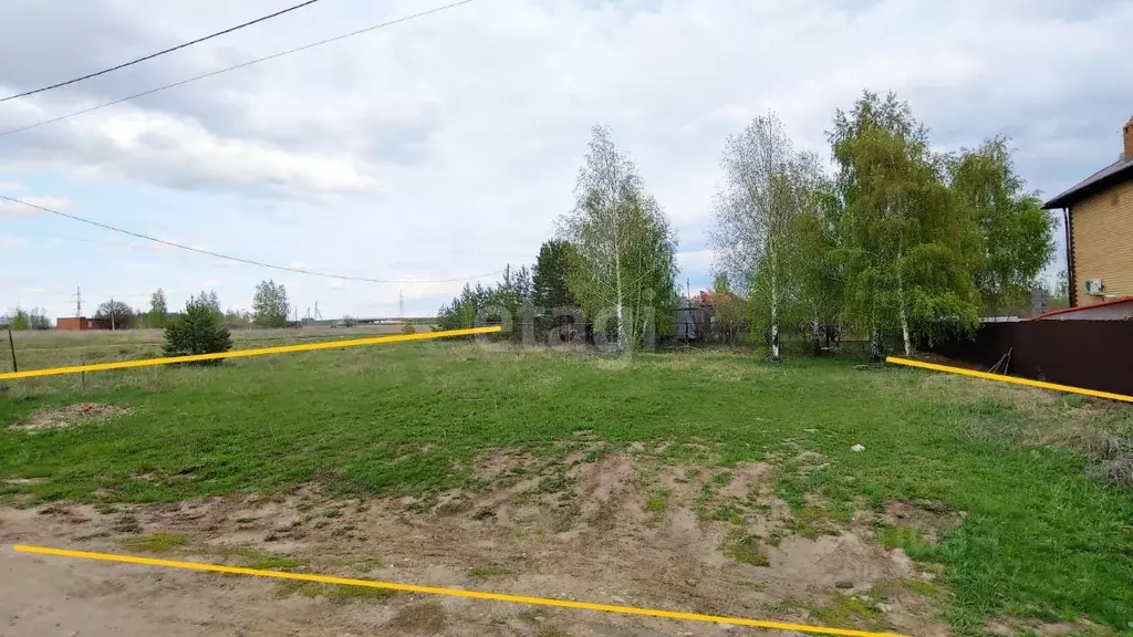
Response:
[[[1023,190],[1005,137],[951,158],[952,189],[966,215],[965,256],[985,312],[1025,304],[1055,249],[1055,219]]]

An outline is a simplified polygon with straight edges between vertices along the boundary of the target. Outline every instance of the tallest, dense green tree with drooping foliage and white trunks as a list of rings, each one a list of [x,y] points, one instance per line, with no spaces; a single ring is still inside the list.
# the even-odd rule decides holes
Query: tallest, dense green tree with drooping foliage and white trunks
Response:
[[[845,205],[844,315],[868,330],[875,357],[886,329],[900,330],[905,354],[914,337],[974,330],[966,222],[928,129],[892,93],[883,100],[867,91],[851,112],[836,112],[829,136]]]

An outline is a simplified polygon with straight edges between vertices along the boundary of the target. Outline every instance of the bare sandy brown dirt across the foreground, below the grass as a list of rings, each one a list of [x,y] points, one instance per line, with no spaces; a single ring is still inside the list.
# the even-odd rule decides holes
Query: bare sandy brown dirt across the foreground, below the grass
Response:
[[[591,456],[496,450],[475,464],[484,478],[495,476],[486,489],[423,500],[343,500],[303,487],[162,506],[0,509],[0,542],[914,635],[945,630],[915,593],[870,601],[868,617],[829,611],[844,610],[846,583],[866,597],[879,583],[915,574],[900,551],[859,529],[792,534],[791,510],[775,498],[766,465],[709,469],[647,452]],[[0,612],[20,635],[757,634],[2,553],[0,581],[35,581],[0,595]],[[866,602],[854,603],[847,608]]]

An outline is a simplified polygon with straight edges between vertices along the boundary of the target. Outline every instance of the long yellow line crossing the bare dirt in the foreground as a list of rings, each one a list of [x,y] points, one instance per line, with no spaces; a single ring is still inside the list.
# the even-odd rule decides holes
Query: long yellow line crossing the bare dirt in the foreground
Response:
[[[799,632],[812,632],[818,635],[841,635],[844,637],[909,637],[906,635],[898,635],[895,632],[871,632],[867,630],[850,630],[845,628],[825,628],[821,626],[809,626],[806,623],[789,623],[783,621],[766,621],[759,619],[744,619],[739,617],[717,617],[717,615],[708,615],[699,613],[683,613],[676,611],[640,609],[637,606],[614,606],[610,604],[591,604],[588,602],[570,602],[565,600],[552,600],[548,597],[526,597],[522,595],[505,595],[503,593],[483,593],[479,591],[462,591],[459,588],[438,588],[435,586],[397,584],[393,581],[378,581],[374,579],[350,579],[346,577],[331,577],[325,575],[308,575],[303,572],[283,572],[276,570],[248,569],[242,567],[225,567],[221,564],[210,564],[202,562],[181,562],[174,560],[159,560],[154,558],[136,558],[134,555],[117,555],[114,553],[91,553],[87,551],[71,551],[68,549],[50,549],[48,546],[27,546],[23,544],[17,544],[12,546],[12,550],[18,553],[57,555],[61,558],[82,558],[85,560],[101,560],[105,562],[123,562],[128,564],[145,564],[151,567],[168,567],[168,568],[201,570],[211,572],[227,572],[232,575],[252,575],[257,577],[271,577],[275,579],[296,579],[299,581],[317,581],[320,584],[335,584],[340,586],[366,586],[368,588],[386,588],[390,591],[403,591],[407,593],[448,595],[451,597],[470,597],[474,600],[491,600],[494,602],[512,602],[517,604],[557,606],[561,609],[576,609],[576,610],[587,610],[587,611],[600,611],[607,613],[659,617],[666,619],[682,619],[687,621],[730,623],[733,626],[750,626],[755,628],[772,628],[777,630],[796,630]]]

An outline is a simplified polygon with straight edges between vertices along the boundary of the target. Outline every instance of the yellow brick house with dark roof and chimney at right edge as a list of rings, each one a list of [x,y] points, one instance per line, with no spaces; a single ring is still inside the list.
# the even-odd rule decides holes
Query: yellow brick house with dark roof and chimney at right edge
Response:
[[[1063,211],[1070,305],[1133,297],[1133,118],[1114,163],[1043,204]]]

